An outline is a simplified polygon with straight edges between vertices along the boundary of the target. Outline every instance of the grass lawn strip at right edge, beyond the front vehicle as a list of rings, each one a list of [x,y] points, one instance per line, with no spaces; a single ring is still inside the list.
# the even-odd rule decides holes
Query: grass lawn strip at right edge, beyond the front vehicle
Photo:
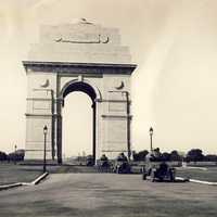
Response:
[[[205,168],[206,169],[206,168]],[[207,167],[206,170],[200,168],[178,168],[177,176],[202,181],[217,182],[217,167]]]

